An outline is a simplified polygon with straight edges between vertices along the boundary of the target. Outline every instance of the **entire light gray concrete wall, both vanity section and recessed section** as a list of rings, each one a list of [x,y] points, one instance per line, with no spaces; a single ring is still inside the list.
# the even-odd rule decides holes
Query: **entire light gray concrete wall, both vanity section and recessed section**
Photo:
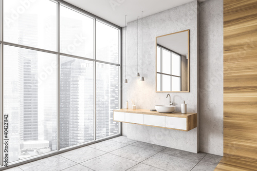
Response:
[[[143,76],[137,72],[137,23],[127,26],[127,79],[123,84],[125,100],[136,100],[137,108],[150,109],[156,104],[168,104],[167,93],[155,92],[155,37],[190,29],[190,93],[171,93],[180,111],[186,100],[188,111],[197,112],[199,119],[199,151],[223,156],[223,0],[199,4],[199,28],[196,22],[196,1],[143,19]],[[179,14],[179,15],[178,15]],[[139,21],[141,28],[141,20]],[[197,36],[197,31],[199,36]],[[141,40],[141,29],[139,30]],[[199,39],[199,90],[197,91],[197,38]],[[123,33],[124,40],[124,33]],[[141,41],[139,41],[139,71],[141,74]],[[123,52],[124,54],[124,52]],[[124,60],[124,56],[123,56]],[[124,78],[124,61],[123,61]],[[197,99],[197,96],[199,98]],[[196,103],[198,100],[198,104]],[[132,103],[130,103],[130,106]],[[172,148],[197,151],[197,129],[189,132],[123,124],[123,135],[136,140]]]

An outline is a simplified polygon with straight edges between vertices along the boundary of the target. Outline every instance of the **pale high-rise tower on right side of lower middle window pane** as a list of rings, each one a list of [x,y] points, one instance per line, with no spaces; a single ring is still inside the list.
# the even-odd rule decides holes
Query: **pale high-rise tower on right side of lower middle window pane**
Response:
[[[71,64],[69,146],[94,140],[94,63]]]

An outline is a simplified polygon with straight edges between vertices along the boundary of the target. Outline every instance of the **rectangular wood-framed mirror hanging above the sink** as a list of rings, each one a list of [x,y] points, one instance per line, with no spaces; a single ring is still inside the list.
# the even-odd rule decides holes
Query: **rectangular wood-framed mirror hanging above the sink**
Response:
[[[156,37],[156,92],[189,92],[189,30]]]

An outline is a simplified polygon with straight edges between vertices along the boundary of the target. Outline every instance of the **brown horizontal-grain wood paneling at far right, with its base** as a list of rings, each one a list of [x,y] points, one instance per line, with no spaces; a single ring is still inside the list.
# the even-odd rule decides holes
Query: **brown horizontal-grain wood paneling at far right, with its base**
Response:
[[[256,0],[224,0],[224,157],[215,170],[257,170]]]

